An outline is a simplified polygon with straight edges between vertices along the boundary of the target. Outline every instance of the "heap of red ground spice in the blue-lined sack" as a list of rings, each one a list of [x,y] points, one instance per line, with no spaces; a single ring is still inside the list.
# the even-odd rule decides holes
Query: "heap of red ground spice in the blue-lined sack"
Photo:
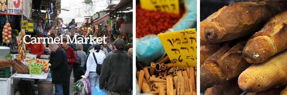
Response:
[[[172,28],[184,14],[184,9],[180,8],[180,14],[172,14],[161,11],[141,9],[140,4],[136,4],[135,25],[136,38],[142,38],[149,34],[164,33],[168,28]]]

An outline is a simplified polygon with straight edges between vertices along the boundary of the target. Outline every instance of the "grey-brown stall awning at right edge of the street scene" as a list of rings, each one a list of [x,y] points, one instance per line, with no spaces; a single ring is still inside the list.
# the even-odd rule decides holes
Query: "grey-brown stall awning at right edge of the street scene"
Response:
[[[132,19],[127,19],[121,24],[121,33],[132,33]]]

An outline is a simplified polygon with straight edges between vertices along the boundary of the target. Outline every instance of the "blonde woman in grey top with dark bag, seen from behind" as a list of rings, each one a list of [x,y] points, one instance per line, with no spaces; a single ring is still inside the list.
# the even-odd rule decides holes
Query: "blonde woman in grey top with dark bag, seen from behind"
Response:
[[[75,74],[75,81],[78,81],[79,79],[81,79],[82,75],[85,75],[85,73],[83,72],[84,70],[84,64],[85,64],[85,59],[87,58],[86,53],[82,50],[83,46],[82,44],[77,45],[76,47],[77,51],[75,51],[76,56],[78,58],[81,58],[81,65],[78,66],[73,66],[74,67],[74,74]]]

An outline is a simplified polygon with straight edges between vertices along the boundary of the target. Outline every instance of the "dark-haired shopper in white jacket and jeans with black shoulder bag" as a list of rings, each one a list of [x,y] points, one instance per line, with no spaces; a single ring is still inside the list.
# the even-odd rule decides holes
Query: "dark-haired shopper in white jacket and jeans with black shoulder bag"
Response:
[[[100,52],[100,49],[101,49],[100,45],[97,44],[94,47],[94,49],[97,50],[93,53],[95,54],[98,64],[103,64],[103,61],[106,58],[106,55]],[[85,76],[89,77],[91,91],[94,91],[95,86],[99,85],[99,78],[100,78],[100,75],[96,73],[97,63],[94,59],[93,53],[90,53],[90,56],[87,59],[87,70],[85,73]]]

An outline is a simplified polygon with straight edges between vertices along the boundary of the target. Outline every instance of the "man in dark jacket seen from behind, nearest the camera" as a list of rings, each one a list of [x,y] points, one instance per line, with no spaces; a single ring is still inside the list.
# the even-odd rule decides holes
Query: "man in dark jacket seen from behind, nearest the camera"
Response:
[[[100,89],[107,83],[107,95],[131,95],[132,89],[132,57],[124,52],[123,39],[114,41],[115,51],[108,55],[102,65],[99,79]]]

